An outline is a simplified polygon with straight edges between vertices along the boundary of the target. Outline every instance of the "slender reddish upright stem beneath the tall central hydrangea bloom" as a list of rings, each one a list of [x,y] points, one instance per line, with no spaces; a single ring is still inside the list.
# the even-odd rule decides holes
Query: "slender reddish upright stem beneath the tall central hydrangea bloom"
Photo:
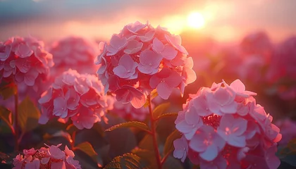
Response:
[[[159,154],[159,146],[157,144],[157,139],[156,139],[156,126],[155,126],[155,119],[153,118],[153,114],[152,114],[152,106],[151,106],[150,95],[148,95],[147,99],[148,99],[148,102],[149,102],[149,114],[150,114],[150,120],[151,120],[151,130],[152,130],[154,153],[155,153],[155,156],[156,156],[157,166],[158,166],[159,169],[161,169],[161,156]]]

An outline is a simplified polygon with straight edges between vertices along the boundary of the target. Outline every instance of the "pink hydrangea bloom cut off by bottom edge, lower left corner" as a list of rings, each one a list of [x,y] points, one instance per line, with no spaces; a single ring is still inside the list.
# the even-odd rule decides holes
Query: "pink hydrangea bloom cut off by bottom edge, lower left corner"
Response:
[[[13,158],[13,169],[27,169],[27,168],[61,168],[61,169],[81,169],[79,161],[74,160],[75,154],[72,150],[65,146],[62,151],[58,144],[51,145],[35,150],[24,149],[23,154],[18,154]]]

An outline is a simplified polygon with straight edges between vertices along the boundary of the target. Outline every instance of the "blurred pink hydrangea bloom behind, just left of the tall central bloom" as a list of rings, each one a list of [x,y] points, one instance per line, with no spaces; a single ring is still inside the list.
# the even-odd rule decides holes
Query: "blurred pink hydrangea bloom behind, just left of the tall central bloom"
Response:
[[[66,37],[52,44],[50,53],[54,57],[53,75],[63,73],[69,68],[78,73],[93,74],[96,70],[94,58],[97,56],[96,45],[82,37]]]

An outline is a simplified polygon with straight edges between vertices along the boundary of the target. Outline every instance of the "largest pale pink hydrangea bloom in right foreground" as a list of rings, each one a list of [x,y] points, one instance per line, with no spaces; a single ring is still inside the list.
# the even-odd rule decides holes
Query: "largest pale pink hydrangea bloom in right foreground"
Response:
[[[175,120],[183,136],[173,142],[173,156],[181,161],[188,156],[201,168],[278,168],[280,130],[255,95],[240,80],[190,95]]]

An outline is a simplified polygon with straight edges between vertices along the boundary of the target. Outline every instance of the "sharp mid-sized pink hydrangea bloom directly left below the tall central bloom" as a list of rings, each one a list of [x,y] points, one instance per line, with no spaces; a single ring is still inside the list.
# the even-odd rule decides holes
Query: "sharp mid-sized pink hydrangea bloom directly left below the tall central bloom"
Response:
[[[97,77],[71,69],[57,77],[38,102],[42,108],[39,123],[54,117],[66,121],[70,118],[78,129],[90,129],[101,118],[106,120],[105,111],[109,109]]]

